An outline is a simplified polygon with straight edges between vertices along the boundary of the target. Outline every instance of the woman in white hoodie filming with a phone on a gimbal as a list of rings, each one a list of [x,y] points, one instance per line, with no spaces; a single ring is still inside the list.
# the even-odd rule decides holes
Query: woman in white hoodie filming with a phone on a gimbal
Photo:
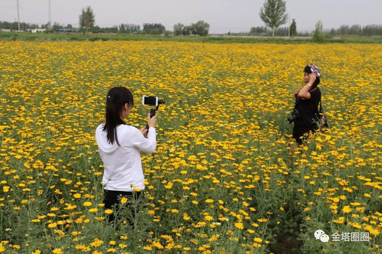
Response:
[[[107,93],[106,121],[95,130],[95,141],[104,163],[104,209],[111,209],[114,204],[118,206],[118,196],[132,197],[134,188],[141,190],[136,192],[138,199],[145,188],[139,150],[154,153],[157,115],[151,118],[150,113],[147,115],[148,133],[146,126],[138,130],[123,121],[133,105],[133,95],[126,87],[111,88]],[[113,214],[108,216],[109,222],[114,219]],[[130,225],[133,225],[131,220]]]

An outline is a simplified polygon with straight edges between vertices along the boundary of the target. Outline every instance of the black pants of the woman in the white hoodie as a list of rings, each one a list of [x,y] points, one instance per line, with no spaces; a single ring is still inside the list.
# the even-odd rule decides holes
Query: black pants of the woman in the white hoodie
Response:
[[[141,196],[142,192],[143,192],[143,190],[136,191],[134,199],[138,200],[138,198],[139,198],[139,196]],[[131,191],[113,191],[113,190],[105,190],[104,189],[104,204],[105,204],[104,209],[112,209],[112,206],[115,205],[116,211],[118,211],[118,206],[120,206],[120,204],[121,204],[120,201],[118,200],[119,195],[121,195],[121,198],[122,197],[128,198],[128,200],[130,198],[133,198],[133,193]],[[125,205],[133,213],[133,207],[131,206],[131,204],[126,203]],[[114,211],[113,211],[113,213],[114,213]],[[108,216],[108,222],[115,221],[115,217],[114,217],[113,213],[107,215]],[[134,216],[134,213],[133,213],[133,216]],[[118,216],[118,218],[120,218],[120,217]],[[130,226],[132,228],[134,228],[134,222],[129,218],[127,218],[127,221],[129,222]]]

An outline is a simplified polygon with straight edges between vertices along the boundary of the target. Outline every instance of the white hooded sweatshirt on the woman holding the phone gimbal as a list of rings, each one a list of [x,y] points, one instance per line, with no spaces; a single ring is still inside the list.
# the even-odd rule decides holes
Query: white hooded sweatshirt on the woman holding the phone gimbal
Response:
[[[154,153],[156,135],[154,127],[149,128],[147,138],[134,126],[121,124],[117,126],[118,146],[114,139],[113,144],[107,141],[107,131],[102,131],[104,124],[95,130],[95,141],[98,152],[104,162],[104,176],[102,185],[105,190],[132,191],[138,187],[144,189],[144,175],[142,171],[141,154]],[[111,180],[109,180],[111,179]],[[133,187],[130,186],[133,183]]]

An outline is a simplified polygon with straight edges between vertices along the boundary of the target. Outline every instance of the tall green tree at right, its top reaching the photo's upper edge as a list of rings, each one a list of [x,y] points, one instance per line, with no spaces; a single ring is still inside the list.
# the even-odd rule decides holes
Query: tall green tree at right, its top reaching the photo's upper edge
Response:
[[[265,0],[260,8],[260,18],[264,23],[272,28],[272,37],[275,36],[275,29],[288,20],[286,14],[285,1],[283,0]]]

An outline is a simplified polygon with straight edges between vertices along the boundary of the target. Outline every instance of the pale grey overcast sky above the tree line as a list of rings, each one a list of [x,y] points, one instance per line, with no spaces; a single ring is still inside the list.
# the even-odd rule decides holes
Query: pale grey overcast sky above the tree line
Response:
[[[111,27],[120,23],[162,23],[173,30],[175,23],[198,20],[210,24],[210,33],[249,31],[264,26],[259,11],[265,0],[51,0],[52,23],[78,26],[86,5],[93,8],[95,24]],[[286,0],[286,11],[296,19],[297,30],[312,30],[321,19],[324,29],[342,24],[382,24],[382,0]],[[19,0],[20,22],[46,24],[48,0]],[[0,21],[17,20],[16,0],[0,0]],[[288,25],[288,22],[283,25]]]

